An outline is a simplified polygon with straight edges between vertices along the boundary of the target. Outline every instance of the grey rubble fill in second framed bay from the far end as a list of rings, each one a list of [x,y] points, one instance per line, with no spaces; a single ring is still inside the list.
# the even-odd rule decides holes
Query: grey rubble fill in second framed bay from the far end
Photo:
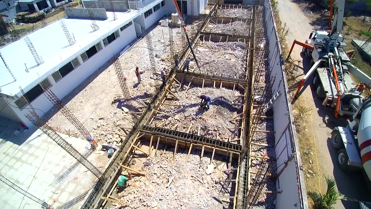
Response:
[[[224,33],[246,36],[250,34],[250,26],[244,22],[236,21],[228,24],[209,25],[211,33]]]

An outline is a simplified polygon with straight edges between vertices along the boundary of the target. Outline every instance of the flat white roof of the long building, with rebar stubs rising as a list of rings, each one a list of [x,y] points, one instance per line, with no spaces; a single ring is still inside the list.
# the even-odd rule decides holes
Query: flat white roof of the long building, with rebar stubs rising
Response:
[[[14,82],[4,63],[0,61],[0,94],[22,96],[19,86],[22,87],[24,92],[29,91],[72,58],[95,45],[98,40],[104,39],[141,14],[133,12],[115,13],[118,18],[116,20],[113,20],[112,12],[107,12],[108,19],[106,20],[95,20],[100,28],[95,32],[91,32],[90,19],[64,18],[70,35],[76,39],[76,43],[72,46],[69,46],[65,33],[60,26],[60,20],[27,35],[36,52],[44,60],[44,63],[39,66],[36,66],[36,61],[24,38],[1,48],[0,51],[4,60],[17,81]],[[29,70],[28,73],[25,64]]]

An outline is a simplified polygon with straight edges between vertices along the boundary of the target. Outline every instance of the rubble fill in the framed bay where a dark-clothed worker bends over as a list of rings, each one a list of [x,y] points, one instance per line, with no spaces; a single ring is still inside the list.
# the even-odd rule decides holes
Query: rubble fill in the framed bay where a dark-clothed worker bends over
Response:
[[[210,96],[210,110],[200,109],[200,95],[202,94]],[[185,90],[180,91],[178,96],[181,101],[169,100],[167,103],[184,106],[166,106],[166,109],[160,110],[171,115],[171,117],[165,119],[166,122],[163,127],[170,129],[178,124],[177,131],[187,132],[190,124],[192,124],[191,133],[197,134],[198,126],[200,126],[200,135],[207,138],[215,139],[217,135],[221,141],[227,141],[229,136],[231,139],[238,138],[239,129],[229,128],[240,126],[240,121],[229,122],[229,120],[242,112],[241,105],[234,105],[242,103],[242,97],[237,97],[240,95],[238,91],[225,88],[191,87],[187,94],[185,94]],[[161,114],[158,114],[158,116],[164,117]],[[159,125],[164,120],[157,119],[155,121]]]

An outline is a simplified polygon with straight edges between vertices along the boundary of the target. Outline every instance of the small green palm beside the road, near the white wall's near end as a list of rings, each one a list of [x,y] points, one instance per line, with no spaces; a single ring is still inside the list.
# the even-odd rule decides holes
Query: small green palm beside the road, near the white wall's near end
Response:
[[[347,200],[344,194],[341,194],[336,190],[335,180],[331,177],[325,176],[327,183],[326,194],[321,194],[316,191],[309,191],[308,196],[313,200],[313,209],[335,209],[335,205],[338,200]]]

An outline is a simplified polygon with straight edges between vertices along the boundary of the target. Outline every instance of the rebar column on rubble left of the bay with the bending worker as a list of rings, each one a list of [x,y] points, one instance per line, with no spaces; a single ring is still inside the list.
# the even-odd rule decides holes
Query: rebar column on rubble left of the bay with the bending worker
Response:
[[[114,64],[114,67],[115,67],[116,75],[117,75],[117,78],[118,78],[118,81],[119,81],[119,84],[120,84],[120,87],[121,87],[121,90],[122,90],[122,94],[124,95],[124,98],[125,98],[125,103],[129,107],[128,109],[129,109],[129,112],[130,112],[130,115],[131,115],[131,119],[133,120],[134,125],[136,125],[137,121],[138,121],[137,114],[135,114],[134,106],[133,106],[133,103],[131,102],[131,99],[130,99],[129,89],[128,89],[128,86],[127,86],[126,81],[125,81],[124,73],[122,72],[120,61],[116,57],[116,55],[114,55],[111,58],[111,60],[112,60],[112,63]]]

